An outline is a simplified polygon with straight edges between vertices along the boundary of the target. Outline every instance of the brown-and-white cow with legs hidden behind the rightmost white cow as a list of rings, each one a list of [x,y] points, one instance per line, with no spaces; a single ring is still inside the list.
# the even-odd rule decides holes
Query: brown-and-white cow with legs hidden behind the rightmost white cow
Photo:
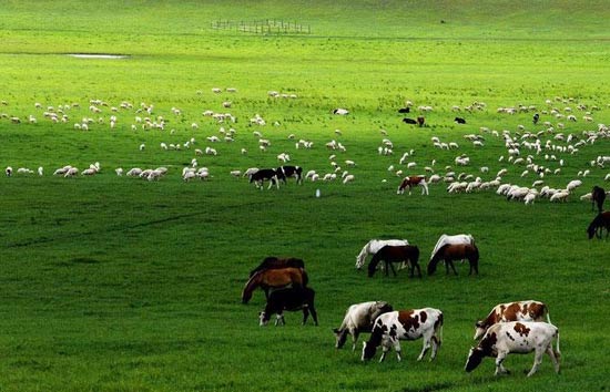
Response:
[[[549,308],[539,301],[528,300],[518,302],[499,303],[491,309],[484,320],[475,324],[475,340],[479,340],[489,327],[498,322],[508,321],[543,321],[550,323]]]

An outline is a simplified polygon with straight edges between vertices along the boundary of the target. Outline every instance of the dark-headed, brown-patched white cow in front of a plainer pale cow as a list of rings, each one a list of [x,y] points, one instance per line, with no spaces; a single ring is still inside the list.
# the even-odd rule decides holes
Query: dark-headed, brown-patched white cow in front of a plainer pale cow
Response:
[[[383,313],[375,320],[370,339],[363,342],[362,360],[369,360],[375,357],[377,347],[383,347],[383,362],[387,352],[394,347],[398,361],[400,357],[400,340],[416,340],[424,338],[424,348],[417,358],[418,361],[424,359],[424,355],[430,347],[433,353],[430,361],[436,358],[436,353],[441,343],[443,336],[443,312],[434,308],[411,309],[411,310],[395,310]]]

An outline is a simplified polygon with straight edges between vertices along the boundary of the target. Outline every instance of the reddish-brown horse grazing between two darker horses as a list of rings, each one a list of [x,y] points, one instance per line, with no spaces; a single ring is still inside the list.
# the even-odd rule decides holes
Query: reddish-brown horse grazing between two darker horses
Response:
[[[265,290],[265,297],[268,295],[268,290],[272,288],[281,288],[292,285],[294,288],[302,288],[307,286],[307,272],[303,268],[278,268],[278,269],[265,269],[255,272],[244,286],[242,291],[242,302],[247,303],[252,298],[252,292],[256,288]]]

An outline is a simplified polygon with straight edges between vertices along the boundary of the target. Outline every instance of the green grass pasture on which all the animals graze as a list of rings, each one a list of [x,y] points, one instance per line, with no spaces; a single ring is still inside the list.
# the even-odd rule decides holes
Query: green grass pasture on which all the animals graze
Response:
[[[541,132],[542,147],[547,141],[567,147],[610,123],[607,6],[0,1],[0,167],[44,171],[0,177],[0,391],[607,390],[610,243],[587,239],[594,213],[580,196],[593,185],[610,187],[608,164],[590,164],[609,155],[608,137],[581,144],[575,154],[521,146],[523,158],[531,155],[550,169],[545,185],[582,180],[567,203],[507,202],[496,187],[448,194],[443,183],[430,185],[429,196],[419,189],[397,196],[400,176],[394,173],[426,174],[429,166],[440,175],[455,171],[490,180],[507,168],[502,183],[531,187],[539,177],[531,169],[521,176],[526,165],[509,163],[504,140],[491,131],[519,142],[526,132]],[[302,23],[312,33],[211,28],[218,20],[266,19]],[[270,91],[296,97],[273,99]],[[406,101],[414,103],[411,117],[421,114],[418,106],[433,106],[424,114],[427,126],[401,123],[397,109]],[[121,107],[124,102],[132,106]],[[464,111],[481,102],[481,110]],[[138,112],[150,105],[151,114]],[[497,111],[519,106],[536,106],[540,122],[532,124],[533,110]],[[335,107],[350,114],[335,116]],[[236,122],[221,124],[204,111],[228,112]],[[67,121],[53,123],[44,112]],[[266,125],[251,124],[256,114]],[[570,114],[576,122],[567,120]],[[467,124],[455,124],[456,115]],[[143,130],[136,116],[163,117],[165,128]],[[75,130],[83,118],[92,118],[89,131]],[[235,130],[234,142],[206,140],[224,137],[221,127]],[[271,141],[266,152],[254,132]],[[555,138],[559,133],[573,140]],[[485,146],[474,147],[466,134],[482,135]],[[433,136],[459,148],[438,149]],[[377,153],[384,138],[394,154]],[[180,151],[160,146],[191,140]],[[295,148],[298,140],[313,147]],[[345,152],[328,151],[332,140]],[[218,154],[195,155],[206,146]],[[334,153],[355,179],[257,190],[230,175],[278,166],[281,153],[321,176],[333,172]],[[460,154],[470,157],[468,166],[455,165]],[[209,182],[182,180],[193,158],[209,167]],[[356,166],[346,167],[346,159]],[[52,175],[64,165],[82,172],[94,162],[102,168],[95,176]],[[415,168],[407,169],[407,162]],[[114,173],[159,166],[169,169],[159,182]],[[482,166],[489,172],[481,173]],[[425,270],[444,233],[476,237],[479,276],[467,276],[466,265],[458,266],[458,277],[440,269],[421,279],[406,271],[367,278],[354,268],[369,239],[407,238],[420,248]],[[301,326],[301,313],[287,312],[285,327],[261,328],[263,292],[241,303],[248,271],[272,255],[305,260],[319,327]],[[384,363],[363,363],[359,349],[334,349],[331,329],[347,307],[376,299],[397,309],[444,311],[435,362],[416,362],[421,341],[403,342],[403,362],[392,352]],[[475,321],[499,302],[521,299],[549,306],[561,333],[561,373],[545,358],[539,373],[526,379],[532,354],[510,355],[505,364],[512,373],[506,376],[494,376],[492,359],[466,373]]]

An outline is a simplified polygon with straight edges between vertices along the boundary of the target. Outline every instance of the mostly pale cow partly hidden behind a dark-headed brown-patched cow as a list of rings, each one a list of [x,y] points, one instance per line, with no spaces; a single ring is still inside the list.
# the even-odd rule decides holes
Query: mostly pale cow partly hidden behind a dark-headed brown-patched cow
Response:
[[[333,329],[336,339],[335,348],[340,349],[345,344],[347,336],[350,334],[352,351],[355,351],[360,332],[370,332],[373,330],[373,322],[375,322],[377,317],[393,310],[392,305],[386,301],[368,301],[352,305],[347,308],[340,327]]]

